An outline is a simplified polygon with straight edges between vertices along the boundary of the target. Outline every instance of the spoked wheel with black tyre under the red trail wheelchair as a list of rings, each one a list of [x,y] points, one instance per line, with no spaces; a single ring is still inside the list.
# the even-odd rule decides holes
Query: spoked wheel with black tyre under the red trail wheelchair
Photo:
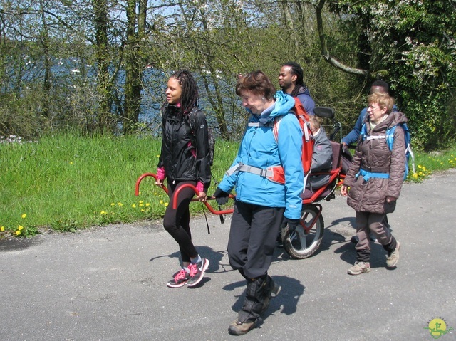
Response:
[[[309,229],[316,216],[318,218],[314,226]],[[321,244],[323,231],[324,222],[323,216],[321,216],[321,206],[320,209],[315,205],[304,206],[301,212],[301,225],[296,228],[296,231],[290,235],[288,226],[281,231],[286,253],[295,259],[304,259],[312,256]]]

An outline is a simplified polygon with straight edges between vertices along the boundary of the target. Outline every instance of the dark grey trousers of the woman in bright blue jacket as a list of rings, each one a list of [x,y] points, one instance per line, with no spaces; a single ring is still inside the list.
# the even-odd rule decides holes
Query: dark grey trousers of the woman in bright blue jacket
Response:
[[[266,276],[284,211],[284,207],[234,202],[228,258],[232,268],[239,270],[245,278]]]

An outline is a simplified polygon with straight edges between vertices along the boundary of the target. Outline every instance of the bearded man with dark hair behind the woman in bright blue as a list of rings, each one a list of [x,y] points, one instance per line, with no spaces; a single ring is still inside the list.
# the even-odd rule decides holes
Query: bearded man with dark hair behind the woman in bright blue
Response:
[[[284,93],[297,97],[309,115],[314,115],[315,102],[309,89],[304,84],[304,71],[301,65],[288,62],[282,65],[279,72],[279,85]]]

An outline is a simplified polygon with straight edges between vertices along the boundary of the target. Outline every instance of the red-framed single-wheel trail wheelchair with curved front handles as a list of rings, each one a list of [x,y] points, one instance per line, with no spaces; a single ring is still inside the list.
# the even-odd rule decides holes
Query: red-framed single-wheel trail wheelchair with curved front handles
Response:
[[[319,203],[320,201],[326,200],[330,201],[335,198],[334,190],[341,182],[341,153],[342,145],[340,142],[334,142],[333,138],[335,134],[340,131],[341,124],[334,119],[334,110],[330,107],[315,107],[315,114],[320,117],[325,117],[328,120],[333,122],[333,132],[328,137],[331,140],[331,147],[333,149],[333,166],[329,172],[324,173],[315,173],[315,174],[329,174],[329,180],[326,185],[316,189],[312,192],[309,197],[303,199],[303,206],[301,211],[301,224],[296,228],[295,231],[289,231],[288,226],[284,226],[281,229],[281,238],[284,245],[286,253],[291,256],[291,258],[304,259],[312,256],[321,244],[324,233],[324,221],[323,215],[323,206]],[[154,177],[157,179],[157,175],[153,173],[142,174],[135,186],[135,195],[139,195],[140,182],[145,177]],[[191,184],[185,184],[175,192],[174,200],[172,203],[173,207],[177,206],[177,197],[179,196],[180,191],[185,188],[192,188],[196,194],[198,191],[195,186]],[[162,186],[162,189],[167,192],[167,188]],[[230,194],[230,197],[234,199],[235,196]],[[214,198],[208,197],[207,200],[211,201]],[[192,199],[192,201],[197,201],[197,199]],[[207,209],[212,214],[220,215],[220,221],[223,223],[224,214],[232,214],[233,209],[214,209],[209,202],[204,202]]]

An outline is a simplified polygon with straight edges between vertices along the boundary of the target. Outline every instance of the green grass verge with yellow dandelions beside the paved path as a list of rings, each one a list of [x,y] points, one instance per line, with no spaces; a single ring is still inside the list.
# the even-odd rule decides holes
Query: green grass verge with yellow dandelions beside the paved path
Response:
[[[237,142],[217,141],[212,172],[218,182],[238,147]],[[160,140],[135,136],[68,133],[0,144],[0,236],[160,219],[169,199],[152,177],[142,181],[135,196],[136,180],[156,172],[159,153]],[[415,164],[417,173],[409,176],[414,182],[456,167],[456,145],[438,153],[415,151]],[[214,191],[212,183],[208,194]],[[190,209],[201,214],[202,206],[195,203]]]

